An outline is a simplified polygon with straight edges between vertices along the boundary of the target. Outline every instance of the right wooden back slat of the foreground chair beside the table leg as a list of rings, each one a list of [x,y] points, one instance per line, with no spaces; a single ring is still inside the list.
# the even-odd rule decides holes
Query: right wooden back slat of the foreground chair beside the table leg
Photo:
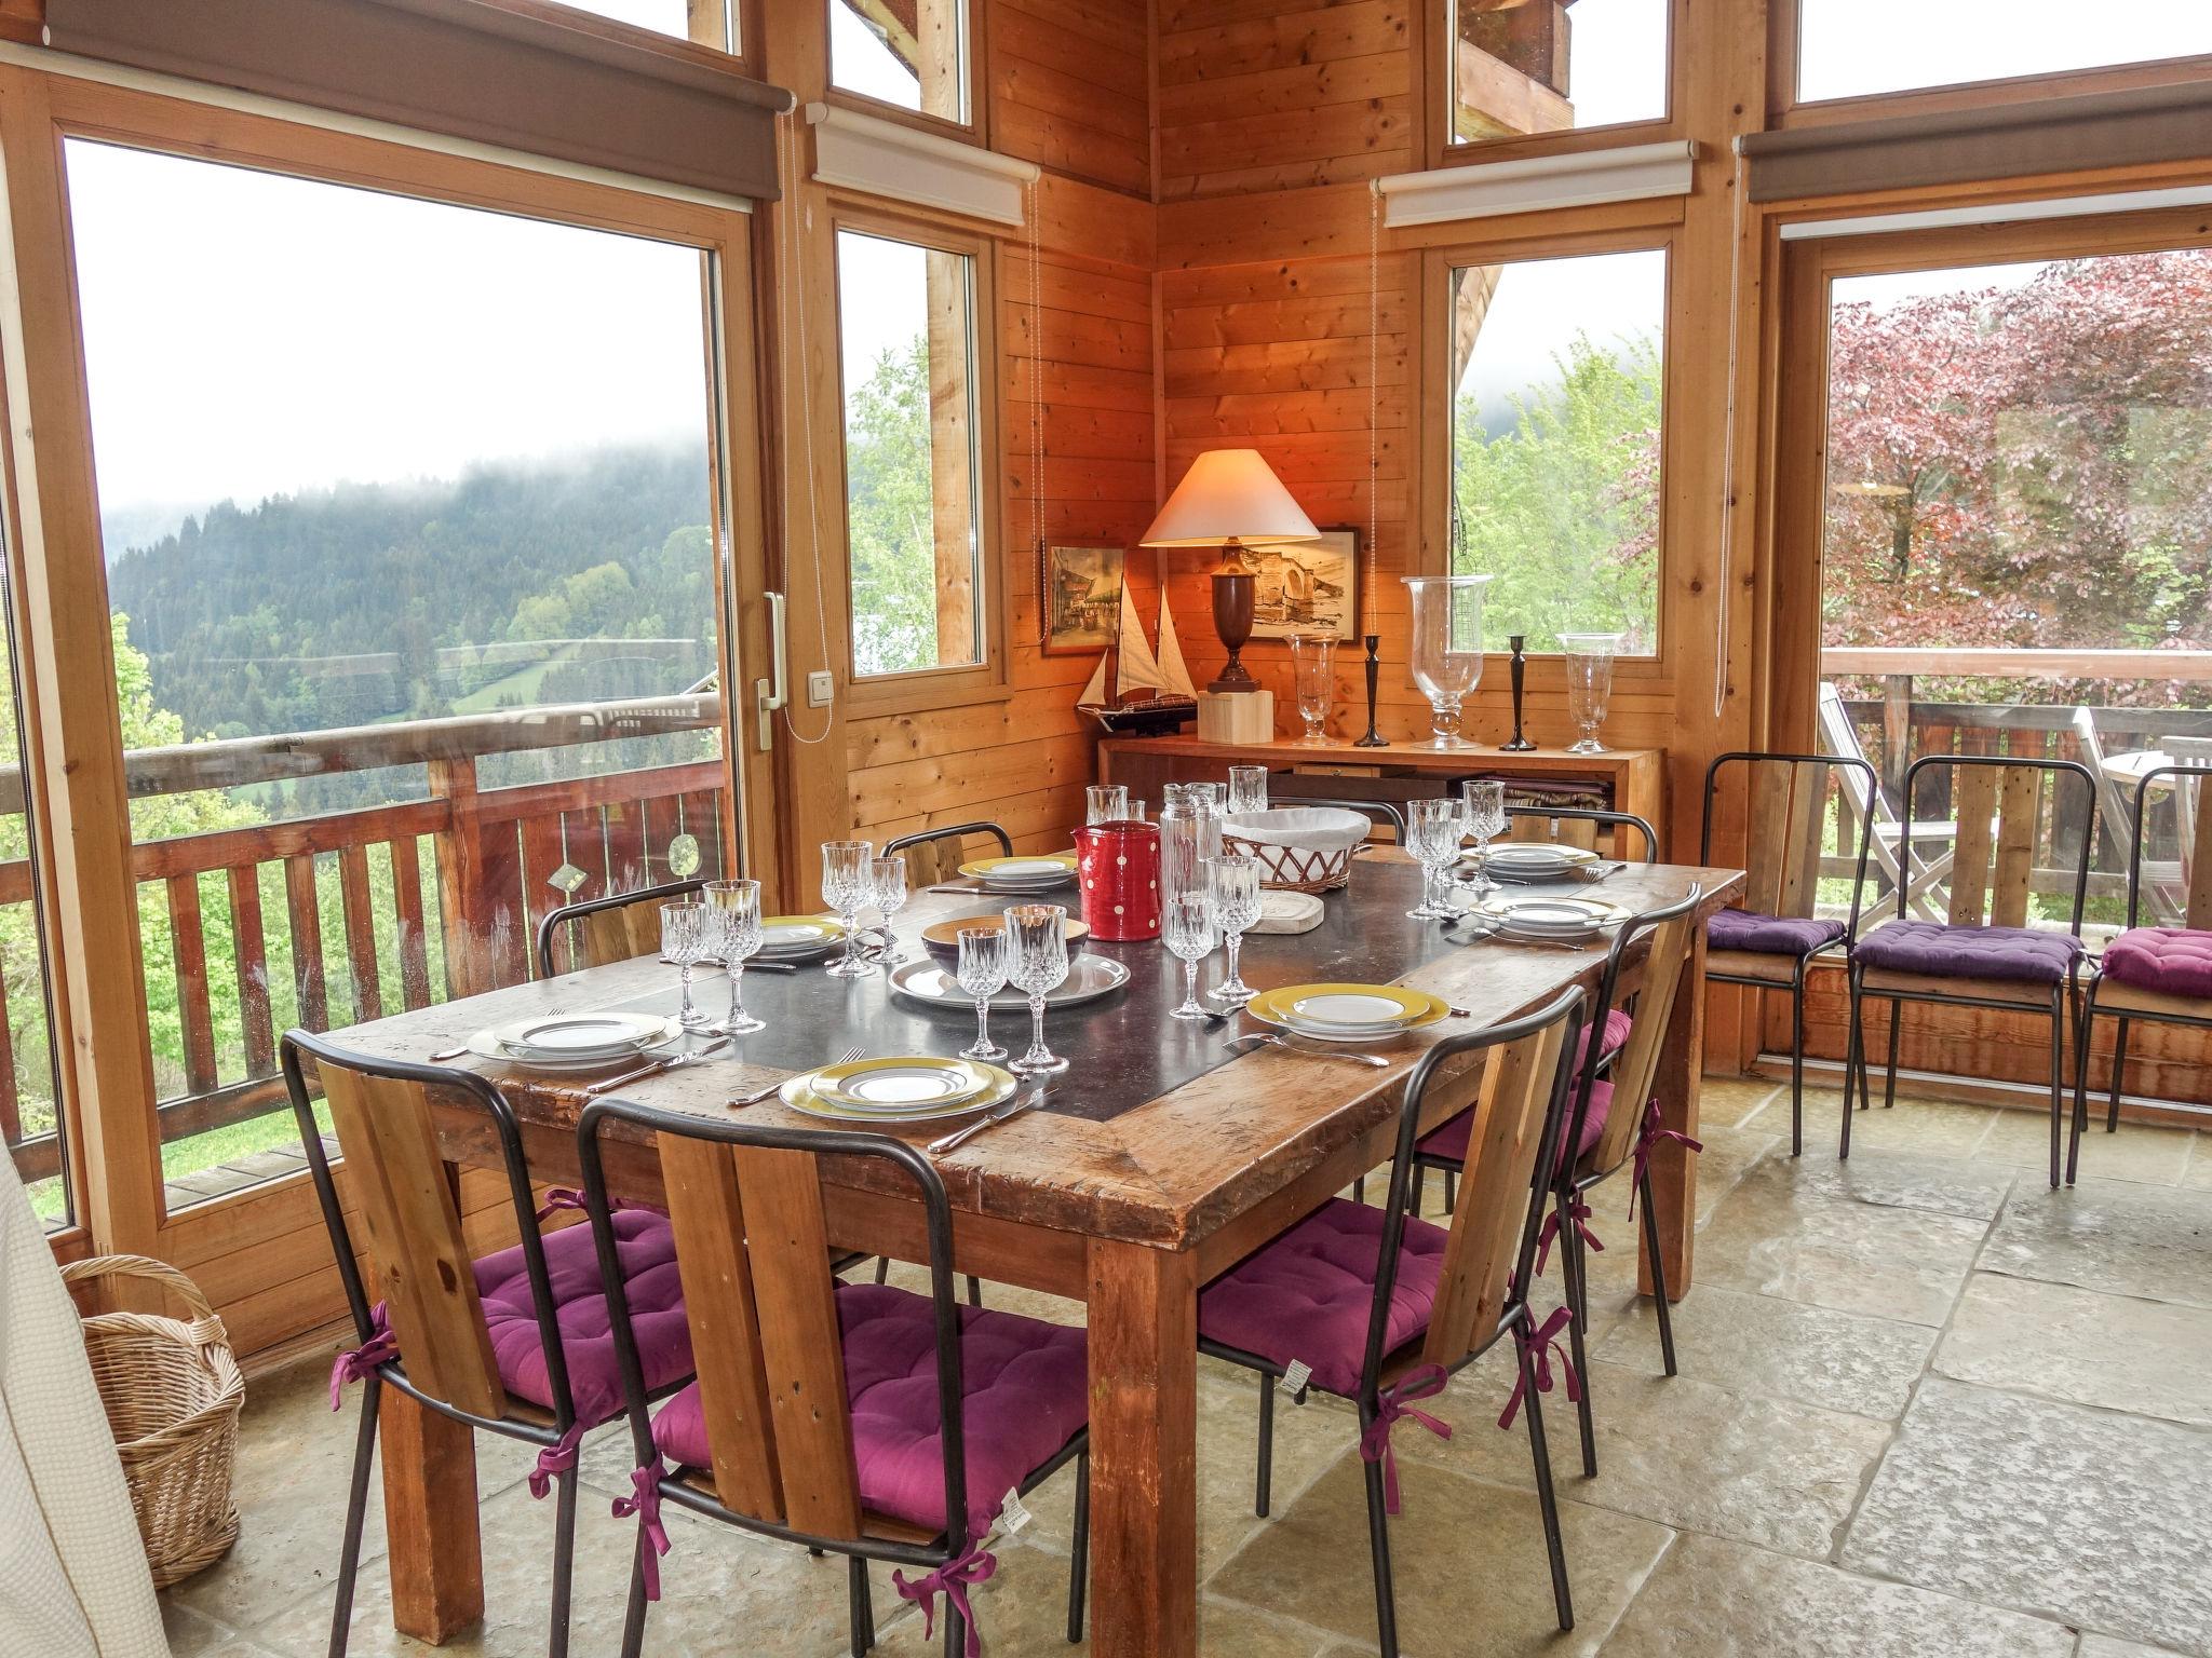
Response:
[[[821,1169],[810,1152],[739,1145],[732,1156],[745,1203],[783,1514],[801,1532],[856,1539],[860,1483]]]

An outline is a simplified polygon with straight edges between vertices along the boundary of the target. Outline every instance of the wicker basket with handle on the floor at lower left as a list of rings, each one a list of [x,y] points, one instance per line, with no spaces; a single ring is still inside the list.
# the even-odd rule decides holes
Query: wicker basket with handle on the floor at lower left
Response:
[[[246,1379],[223,1322],[175,1267],[146,1256],[93,1256],[62,1267],[62,1278],[71,1284],[142,1278],[190,1311],[190,1324],[153,1313],[84,1320],[84,1355],[124,1461],[146,1563],[155,1587],[166,1589],[215,1565],[239,1541],[230,1468]]]

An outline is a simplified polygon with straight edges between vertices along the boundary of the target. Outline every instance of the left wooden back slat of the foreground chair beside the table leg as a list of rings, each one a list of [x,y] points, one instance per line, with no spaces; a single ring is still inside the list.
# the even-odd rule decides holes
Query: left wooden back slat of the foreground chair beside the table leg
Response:
[[[659,1150],[714,1494],[737,1514],[781,1523],[783,1477],[737,1163],[728,1145],[684,1134],[661,1134]]]

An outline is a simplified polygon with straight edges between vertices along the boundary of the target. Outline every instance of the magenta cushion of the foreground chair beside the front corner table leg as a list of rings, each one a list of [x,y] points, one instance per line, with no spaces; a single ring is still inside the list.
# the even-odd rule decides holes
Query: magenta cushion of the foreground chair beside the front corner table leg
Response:
[[[894,1284],[838,1284],[845,1399],[860,1505],[929,1530],[945,1528],[945,1446],[938,1424],[938,1335],[927,1295]],[[1088,1421],[1088,1349],[1079,1329],[1020,1313],[960,1309],[960,1446],[969,1536],[982,1536],[1009,1490],[1053,1459]],[[653,1444],[706,1468],[699,1384],[653,1419]]]

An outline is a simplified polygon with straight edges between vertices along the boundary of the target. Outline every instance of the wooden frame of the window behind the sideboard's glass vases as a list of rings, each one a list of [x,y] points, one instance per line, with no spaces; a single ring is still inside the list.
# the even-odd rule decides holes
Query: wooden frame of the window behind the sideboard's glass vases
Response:
[[[1444,575],[1451,568],[1451,491],[1453,491],[1453,405],[1458,387],[1451,385],[1449,340],[1451,340],[1451,272],[1464,265],[1517,265],[1546,259],[1584,259],[1590,254],[1639,254],[1661,252],[1666,256],[1666,294],[1661,301],[1659,336],[1659,478],[1657,493],[1657,573],[1655,573],[1655,630],[1650,654],[1617,657],[1613,668],[1615,688],[1661,690],[1672,685],[1677,641],[1683,637],[1686,606],[1674,592],[1672,531],[1679,522],[1674,502],[1674,444],[1681,420],[1670,411],[1681,407],[1679,338],[1683,290],[1677,281],[1681,263],[1679,199],[1661,203],[1632,203],[1663,208],[1670,217],[1630,228],[1586,228],[1586,230],[1504,230],[1486,241],[1451,241],[1422,250],[1420,254],[1420,329],[1416,349],[1420,351],[1420,418],[1427,424],[1418,453],[1418,546],[1409,559],[1409,575]],[[1604,212],[1604,210],[1599,210]],[[1555,214],[1544,214],[1555,217]],[[1458,230],[1458,225],[1453,225]],[[1506,661],[1504,634],[1495,646],[1484,641],[1484,657]],[[1537,694],[1566,694],[1566,659],[1559,652],[1528,652],[1528,688]],[[1411,679],[1407,679],[1411,683]],[[1504,676],[1484,670],[1482,690],[1495,692]]]

